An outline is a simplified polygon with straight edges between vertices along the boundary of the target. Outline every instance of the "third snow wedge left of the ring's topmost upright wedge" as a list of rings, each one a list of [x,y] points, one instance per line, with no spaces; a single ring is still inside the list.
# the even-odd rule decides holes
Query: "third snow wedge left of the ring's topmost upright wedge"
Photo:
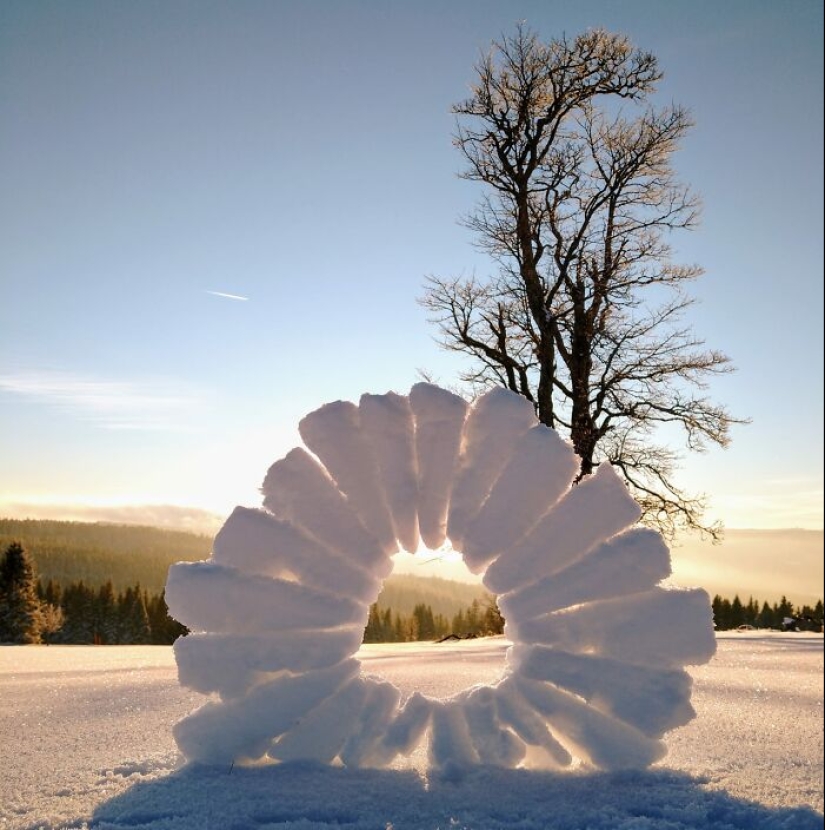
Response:
[[[264,507],[379,579],[392,560],[361,524],[323,467],[300,447],[276,461],[261,487]]]

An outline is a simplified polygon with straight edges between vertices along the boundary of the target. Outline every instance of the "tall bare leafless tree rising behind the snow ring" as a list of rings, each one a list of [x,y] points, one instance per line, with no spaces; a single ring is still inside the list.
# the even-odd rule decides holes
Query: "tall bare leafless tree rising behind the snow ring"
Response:
[[[476,73],[455,145],[486,186],[466,224],[498,273],[428,279],[443,345],[474,358],[464,380],[524,395],[566,432],[581,476],[608,460],[648,523],[716,537],[704,499],[673,481],[678,453],[655,443],[675,424],[690,450],[726,446],[736,422],[704,394],[728,358],[683,321],[702,271],[671,259],[671,232],[698,212],[671,166],[687,112],[650,105],[656,58],[604,31],[543,43],[519,27]]]

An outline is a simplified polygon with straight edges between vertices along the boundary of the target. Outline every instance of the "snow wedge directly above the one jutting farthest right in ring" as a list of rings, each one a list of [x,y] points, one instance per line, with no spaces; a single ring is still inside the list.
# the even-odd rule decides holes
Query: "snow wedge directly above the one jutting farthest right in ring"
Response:
[[[655,530],[639,527],[614,536],[564,570],[499,597],[515,630],[520,622],[582,602],[648,591],[670,576],[670,552]]]

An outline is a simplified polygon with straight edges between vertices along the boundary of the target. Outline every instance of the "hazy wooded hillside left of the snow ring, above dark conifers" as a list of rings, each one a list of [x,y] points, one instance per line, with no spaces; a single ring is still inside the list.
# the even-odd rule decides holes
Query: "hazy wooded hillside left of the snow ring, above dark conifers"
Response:
[[[41,519],[0,519],[0,551],[18,541],[32,555],[43,582],[83,580],[115,591],[139,582],[160,593],[173,562],[206,559],[212,539],[179,530]]]

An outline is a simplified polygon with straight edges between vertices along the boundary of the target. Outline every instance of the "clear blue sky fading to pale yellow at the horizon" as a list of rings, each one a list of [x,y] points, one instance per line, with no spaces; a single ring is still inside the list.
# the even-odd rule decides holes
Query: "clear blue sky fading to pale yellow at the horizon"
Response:
[[[310,410],[453,383],[416,298],[492,265],[449,109],[518,20],[629,35],[692,111],[674,245],[738,368],[710,394],[752,423],[680,481],[729,527],[821,529],[818,0],[5,0],[0,515],[226,515]]]

